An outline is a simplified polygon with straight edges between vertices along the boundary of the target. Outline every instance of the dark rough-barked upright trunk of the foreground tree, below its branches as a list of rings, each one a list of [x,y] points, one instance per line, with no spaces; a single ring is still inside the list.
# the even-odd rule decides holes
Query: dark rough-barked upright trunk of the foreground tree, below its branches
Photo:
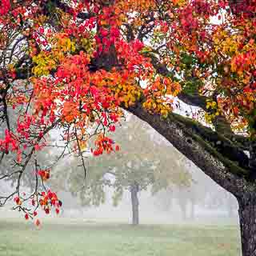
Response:
[[[238,198],[242,256],[256,256],[256,194]]]

